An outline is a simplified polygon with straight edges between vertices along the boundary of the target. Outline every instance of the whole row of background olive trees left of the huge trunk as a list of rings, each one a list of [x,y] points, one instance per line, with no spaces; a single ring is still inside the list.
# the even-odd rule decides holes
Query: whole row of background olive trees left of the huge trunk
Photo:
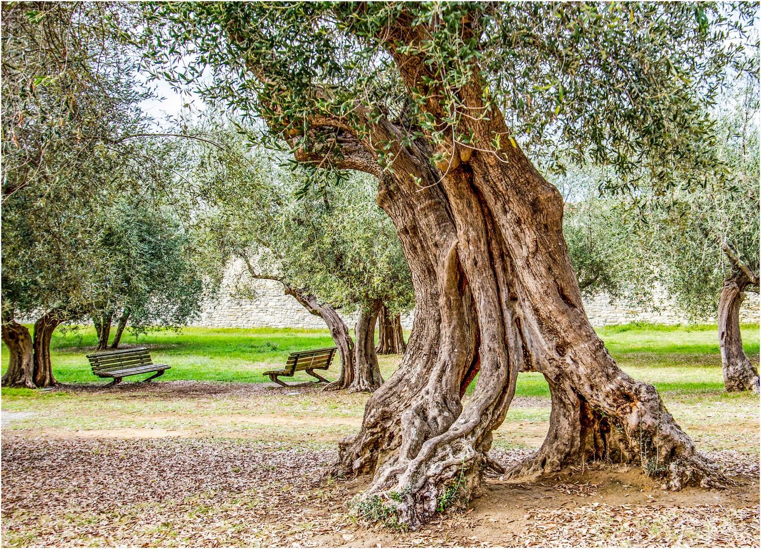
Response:
[[[3,15],[4,384],[56,384],[49,345],[65,322],[93,319],[99,349],[118,347],[128,324],[185,325],[224,265],[244,259],[250,276],[282,281],[326,320],[342,357],[331,388],[380,386],[375,319],[396,320],[381,324],[392,327],[383,351],[399,351],[412,290],[371,181],[358,205],[336,189],[297,201],[303,178],[253,157],[263,151],[233,126],[157,133],[119,35],[128,8],[4,5]],[[339,308],[359,312],[357,344]],[[31,316],[32,332],[17,320]]]

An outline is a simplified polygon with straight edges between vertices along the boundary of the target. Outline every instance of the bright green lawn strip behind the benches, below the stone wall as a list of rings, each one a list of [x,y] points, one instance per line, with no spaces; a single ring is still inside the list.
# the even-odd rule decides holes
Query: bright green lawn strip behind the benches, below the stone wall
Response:
[[[654,383],[660,391],[699,397],[702,392],[723,389],[715,326],[629,324],[600,328],[598,333],[626,372]],[[185,328],[180,334],[153,332],[137,339],[126,335],[123,343],[145,345],[155,361],[170,364],[171,370],[160,381],[220,382],[267,382],[269,379],[261,374],[272,367],[281,367],[289,353],[333,344],[327,330],[294,328]],[[743,326],[743,343],[757,362],[758,325]],[[57,331],[51,345],[56,379],[64,383],[105,383],[92,375],[84,356],[95,345],[91,327]],[[397,363],[398,357],[381,357],[384,376],[390,376]],[[3,371],[7,365],[8,350],[3,345]],[[335,376],[337,364],[330,371]],[[298,373],[294,379],[312,378]],[[3,395],[20,394],[25,389],[8,391],[3,389]],[[549,396],[549,390],[539,373],[524,373],[518,378],[517,395]]]

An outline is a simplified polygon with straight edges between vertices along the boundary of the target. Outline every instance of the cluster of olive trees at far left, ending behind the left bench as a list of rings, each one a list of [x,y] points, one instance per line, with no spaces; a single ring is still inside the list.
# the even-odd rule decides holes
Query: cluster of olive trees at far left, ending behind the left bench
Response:
[[[93,317],[100,346],[183,325],[201,273],[179,217],[156,191],[177,157],[150,137],[134,56],[98,3],[2,6],[3,384],[56,384],[49,346],[62,322]],[[121,18],[121,19],[120,19]],[[60,55],[65,50],[66,55]],[[17,319],[36,318],[33,332]]]

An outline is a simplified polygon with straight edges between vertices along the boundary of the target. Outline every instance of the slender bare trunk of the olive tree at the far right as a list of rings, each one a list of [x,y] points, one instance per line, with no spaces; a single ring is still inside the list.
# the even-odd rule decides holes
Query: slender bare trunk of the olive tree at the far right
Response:
[[[759,374],[743,351],[740,334],[740,305],[749,281],[736,273],[721,288],[718,300],[718,341],[721,348],[721,367],[724,371],[724,388],[729,392],[759,392]]]

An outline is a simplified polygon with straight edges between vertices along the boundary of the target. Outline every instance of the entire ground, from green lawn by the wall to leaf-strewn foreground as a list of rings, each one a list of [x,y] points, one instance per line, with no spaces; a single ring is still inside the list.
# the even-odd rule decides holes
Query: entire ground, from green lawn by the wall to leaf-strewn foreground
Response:
[[[758,395],[724,392],[715,327],[599,333],[624,370],[661,390],[699,449],[737,479],[733,487],[675,495],[637,468],[597,464],[527,484],[490,478],[473,513],[447,514],[422,532],[368,531],[345,507],[361,480],[320,480],[336,442],[358,430],[368,395],[272,387],[261,376],[291,351],[329,345],[327,332],[187,328],[127,338],[172,370],[158,382],[102,389],[84,356],[95,343],[87,329],[53,339],[65,386],[2,389],[2,545],[523,546],[552,544],[551,531],[587,546],[757,543]],[[743,340],[757,365],[758,326],[745,326]],[[2,358],[5,368],[5,347]],[[384,376],[399,360],[380,358]],[[541,376],[518,377],[492,433],[495,459],[540,446],[548,397]]]

